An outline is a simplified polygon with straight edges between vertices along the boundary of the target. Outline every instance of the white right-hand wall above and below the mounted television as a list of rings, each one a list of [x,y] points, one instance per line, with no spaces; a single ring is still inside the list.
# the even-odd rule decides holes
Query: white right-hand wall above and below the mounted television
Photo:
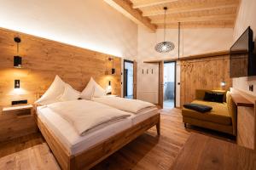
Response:
[[[234,39],[241,36],[242,32],[247,29],[247,26],[251,26],[253,29],[253,41],[256,40],[256,19],[255,10],[256,1],[255,0],[241,0],[240,9],[236,18],[236,26],[234,29]],[[249,91],[249,85],[253,84],[254,91]],[[256,77],[240,77],[233,78],[233,87],[239,88],[248,94],[256,95]]]

